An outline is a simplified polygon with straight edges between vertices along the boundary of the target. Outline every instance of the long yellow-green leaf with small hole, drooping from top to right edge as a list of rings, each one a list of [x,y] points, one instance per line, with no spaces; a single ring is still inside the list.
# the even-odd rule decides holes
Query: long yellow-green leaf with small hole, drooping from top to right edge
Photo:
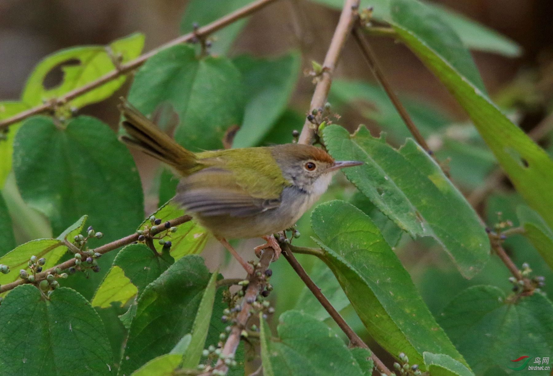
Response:
[[[394,0],[394,4],[392,18],[399,38],[445,84],[466,110],[517,191],[553,227],[553,161],[500,112],[479,89],[479,82],[473,81],[474,77],[451,60],[448,52],[451,44],[435,35],[439,30],[440,34],[452,38],[446,24],[433,19],[432,25],[420,28],[420,24],[430,22],[424,9],[406,0]]]

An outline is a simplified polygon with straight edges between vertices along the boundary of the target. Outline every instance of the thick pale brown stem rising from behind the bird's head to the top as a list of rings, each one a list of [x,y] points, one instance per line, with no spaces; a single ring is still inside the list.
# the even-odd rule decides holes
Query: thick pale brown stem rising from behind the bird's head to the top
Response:
[[[338,62],[338,57],[342,52],[343,46],[346,43],[346,39],[351,33],[354,23],[357,20],[357,9],[359,8],[359,0],[345,0],[342,14],[340,14],[340,20],[330,41],[330,46],[326,52],[325,61],[322,65],[322,72],[319,77],[319,82],[315,86],[313,97],[311,98],[311,104],[309,112],[324,107],[328,92],[330,91],[330,85],[332,83],[332,75]],[[305,120],[304,128],[301,130],[300,137],[298,139],[299,144],[311,144],[315,135],[315,125],[309,120]]]

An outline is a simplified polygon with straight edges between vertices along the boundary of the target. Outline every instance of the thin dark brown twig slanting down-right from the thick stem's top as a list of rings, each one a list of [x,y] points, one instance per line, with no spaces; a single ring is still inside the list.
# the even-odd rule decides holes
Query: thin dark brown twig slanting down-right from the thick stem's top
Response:
[[[353,36],[357,41],[359,48],[361,48],[362,55],[365,58],[367,65],[371,68],[371,71],[373,72],[374,77],[376,77],[380,85],[382,85],[382,87],[384,88],[384,91],[386,92],[386,94],[388,94],[388,98],[392,100],[392,104],[394,105],[395,109],[398,111],[399,116],[401,116],[401,119],[404,121],[405,125],[407,126],[407,129],[409,129],[411,135],[413,135],[413,137],[415,138],[415,141],[420,146],[422,146],[424,150],[432,154],[430,147],[428,146],[428,144],[426,144],[426,140],[420,134],[419,129],[416,127],[415,123],[413,123],[413,120],[411,120],[411,116],[409,116],[409,113],[407,112],[405,107],[403,107],[403,104],[401,104],[401,101],[399,100],[398,96],[395,94],[394,90],[392,89],[392,86],[390,85],[388,79],[386,78],[386,75],[384,75],[384,72],[382,71],[382,69],[380,69],[377,58],[374,55],[374,52],[371,49],[371,46],[369,45],[367,39],[363,35],[361,26],[356,25],[356,27],[353,28]]]

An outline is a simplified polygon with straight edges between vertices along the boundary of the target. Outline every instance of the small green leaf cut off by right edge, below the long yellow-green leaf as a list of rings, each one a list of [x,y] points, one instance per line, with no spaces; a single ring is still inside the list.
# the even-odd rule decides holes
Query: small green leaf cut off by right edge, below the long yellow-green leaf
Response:
[[[534,210],[528,206],[519,206],[517,216],[524,227],[524,236],[538,250],[541,257],[553,270],[553,231]]]

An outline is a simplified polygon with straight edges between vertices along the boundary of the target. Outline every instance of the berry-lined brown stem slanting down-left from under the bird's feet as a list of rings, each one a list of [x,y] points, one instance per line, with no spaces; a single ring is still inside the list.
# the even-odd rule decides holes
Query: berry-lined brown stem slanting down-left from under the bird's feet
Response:
[[[259,263],[255,266],[254,272],[247,277],[249,283],[246,293],[244,293],[244,299],[242,300],[242,308],[234,320],[232,330],[229,333],[225,346],[223,347],[223,351],[221,352],[221,357],[224,357],[225,359],[228,358],[229,354],[234,355],[236,353],[236,349],[240,343],[240,338],[242,337],[242,331],[246,329],[249,317],[251,316],[250,310],[252,309],[252,303],[255,301],[260,290],[266,283],[265,271],[269,268],[269,264],[273,260],[274,254],[275,252],[273,248],[265,248],[261,258],[259,259]],[[228,367],[221,360],[215,364],[214,369],[222,370],[224,373],[228,371]],[[209,370],[201,375],[208,376],[211,374],[212,370]]]

